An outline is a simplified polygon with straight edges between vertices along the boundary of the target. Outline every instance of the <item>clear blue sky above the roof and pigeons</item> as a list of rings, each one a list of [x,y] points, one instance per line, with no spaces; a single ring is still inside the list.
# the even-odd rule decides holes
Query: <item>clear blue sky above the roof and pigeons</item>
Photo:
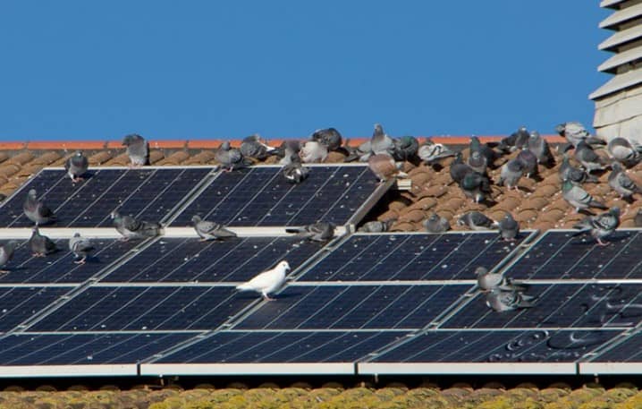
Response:
[[[507,134],[590,125],[587,0],[0,4],[0,140]]]

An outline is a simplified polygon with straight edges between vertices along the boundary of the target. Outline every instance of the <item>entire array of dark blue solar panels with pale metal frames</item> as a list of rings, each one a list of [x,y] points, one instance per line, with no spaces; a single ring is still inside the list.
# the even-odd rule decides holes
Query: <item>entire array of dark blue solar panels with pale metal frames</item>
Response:
[[[39,173],[0,208],[0,242],[24,237],[13,227],[30,226],[21,207],[33,188],[58,215],[47,232],[61,251],[35,257],[21,241],[0,274],[0,376],[625,373],[642,359],[634,229],[604,247],[568,231],[330,243],[176,233],[122,242],[112,232],[93,239],[84,265],[56,229],[110,226],[114,209],[169,229],[194,214],[232,227],[345,225],[387,189],[367,166],[314,166],[300,184],[279,171],[97,168],[75,184],[60,169]],[[276,301],[236,291],[280,260],[292,272]],[[535,306],[490,310],[479,266],[521,281]]]

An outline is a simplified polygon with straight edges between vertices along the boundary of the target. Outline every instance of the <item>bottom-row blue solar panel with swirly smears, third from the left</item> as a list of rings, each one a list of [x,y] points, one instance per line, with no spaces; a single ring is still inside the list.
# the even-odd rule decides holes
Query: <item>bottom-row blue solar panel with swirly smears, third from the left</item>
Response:
[[[428,331],[373,362],[575,362],[618,330]]]

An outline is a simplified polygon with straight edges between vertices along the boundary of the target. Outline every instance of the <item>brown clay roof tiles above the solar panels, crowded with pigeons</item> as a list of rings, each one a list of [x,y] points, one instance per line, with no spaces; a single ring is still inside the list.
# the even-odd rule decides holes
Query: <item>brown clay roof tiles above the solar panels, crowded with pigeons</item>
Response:
[[[560,143],[561,137],[546,136],[548,141]],[[498,141],[501,137],[482,137],[482,141]],[[419,138],[421,141],[422,138]],[[467,137],[432,138],[433,141],[446,143],[461,149],[464,158],[468,158]],[[351,140],[357,145],[361,140]],[[154,166],[194,166],[215,165],[215,150],[220,141],[150,141],[150,162]],[[240,141],[233,141],[238,145]],[[269,141],[278,146],[280,141]],[[65,150],[60,149],[63,146]],[[83,149],[90,166],[126,166],[128,158],[120,142],[5,142],[0,144],[0,192],[9,195],[31,175],[45,166],[62,166],[65,159],[72,155],[74,149]],[[562,156],[553,149],[557,164],[551,168],[540,166],[540,180],[522,178],[520,190],[507,192],[504,187],[494,186],[494,203],[475,203],[452,183],[448,165],[452,158],[443,160],[443,166],[404,163],[404,170],[411,180],[408,191],[392,191],[384,195],[367,219],[396,219],[393,231],[422,231],[422,222],[436,212],[446,217],[453,230],[465,230],[456,225],[457,218],[471,210],[478,210],[488,217],[499,219],[509,211],[520,222],[522,228],[547,230],[550,228],[569,228],[579,221],[584,214],[576,213],[562,198],[561,182],[557,175]],[[605,152],[604,152],[605,154]],[[489,171],[493,181],[499,179],[500,166],[516,153],[498,159],[494,169]],[[571,155],[572,156],[572,155]],[[331,152],[326,162],[342,162],[345,156],[340,152]],[[266,159],[266,164],[278,161],[275,156]],[[577,165],[577,164],[576,164]],[[640,203],[622,200],[606,183],[608,173],[599,175],[600,183],[585,183],[584,188],[596,200],[609,207],[620,206],[622,209],[621,226],[634,226],[633,217]],[[642,181],[642,165],[629,170],[629,175]]]

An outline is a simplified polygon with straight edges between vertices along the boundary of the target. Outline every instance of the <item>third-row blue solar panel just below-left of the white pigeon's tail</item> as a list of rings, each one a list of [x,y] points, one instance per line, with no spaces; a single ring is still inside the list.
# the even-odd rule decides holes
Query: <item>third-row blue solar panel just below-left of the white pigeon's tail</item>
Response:
[[[95,286],[31,331],[214,329],[257,300],[232,286]]]

